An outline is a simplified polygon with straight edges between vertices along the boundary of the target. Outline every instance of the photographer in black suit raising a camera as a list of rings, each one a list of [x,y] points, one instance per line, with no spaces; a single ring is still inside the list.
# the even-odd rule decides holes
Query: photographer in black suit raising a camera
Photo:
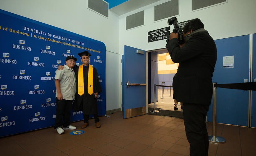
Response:
[[[173,62],[179,63],[173,77],[173,96],[183,102],[190,156],[205,156],[209,148],[205,119],[213,94],[212,76],[217,50],[200,19],[189,21],[183,28],[183,35],[184,44],[179,45],[178,34],[171,33],[166,45]]]

